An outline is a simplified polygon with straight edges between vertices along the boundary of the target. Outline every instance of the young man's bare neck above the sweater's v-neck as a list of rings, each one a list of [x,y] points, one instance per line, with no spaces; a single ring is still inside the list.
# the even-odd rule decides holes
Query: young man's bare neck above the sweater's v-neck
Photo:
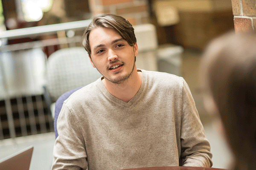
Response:
[[[110,94],[124,102],[129,102],[140,89],[142,72],[138,72],[137,69],[134,68],[131,76],[122,83],[116,84],[106,79],[102,79],[102,82]]]

